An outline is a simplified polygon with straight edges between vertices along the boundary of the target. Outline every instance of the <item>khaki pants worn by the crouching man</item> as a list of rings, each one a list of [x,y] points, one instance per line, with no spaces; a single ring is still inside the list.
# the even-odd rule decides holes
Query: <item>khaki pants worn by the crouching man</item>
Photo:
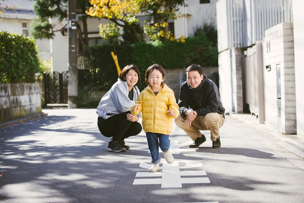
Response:
[[[175,119],[176,125],[185,131],[192,140],[201,137],[200,130],[210,130],[211,140],[216,141],[220,136],[220,127],[223,126],[225,118],[218,113],[209,113],[205,116],[197,116],[192,122],[191,126],[187,127],[185,124],[186,116],[181,114]]]

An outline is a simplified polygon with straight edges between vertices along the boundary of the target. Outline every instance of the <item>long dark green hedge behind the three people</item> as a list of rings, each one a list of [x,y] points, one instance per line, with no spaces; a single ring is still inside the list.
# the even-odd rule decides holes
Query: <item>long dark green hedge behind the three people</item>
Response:
[[[139,68],[141,75],[140,89],[144,88],[146,69],[153,63],[158,63],[164,68],[186,68],[191,64],[200,64],[203,67],[218,66],[218,49],[205,34],[197,34],[186,38],[186,42],[165,41],[138,42],[135,44],[103,44],[90,47],[92,57],[91,68],[99,69],[102,75],[101,83],[93,84],[99,89],[106,90],[117,80],[117,70],[111,51],[118,56],[119,67],[134,64]]]

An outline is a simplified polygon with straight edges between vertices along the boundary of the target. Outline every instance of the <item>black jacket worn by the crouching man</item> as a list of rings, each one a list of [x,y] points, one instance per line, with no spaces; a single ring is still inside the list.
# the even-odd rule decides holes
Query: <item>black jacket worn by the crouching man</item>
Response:
[[[198,116],[205,116],[208,113],[217,112],[224,116],[218,86],[203,74],[203,82],[196,88],[192,88],[185,81],[181,85],[179,100],[179,110],[182,115],[186,115],[186,110],[192,109]]]

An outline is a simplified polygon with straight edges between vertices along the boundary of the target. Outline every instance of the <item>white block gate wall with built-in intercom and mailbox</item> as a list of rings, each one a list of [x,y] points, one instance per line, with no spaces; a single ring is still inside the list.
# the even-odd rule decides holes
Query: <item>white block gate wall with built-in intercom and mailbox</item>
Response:
[[[271,68],[264,68],[265,123],[274,131],[296,134],[293,23],[266,30],[263,43],[264,66]]]

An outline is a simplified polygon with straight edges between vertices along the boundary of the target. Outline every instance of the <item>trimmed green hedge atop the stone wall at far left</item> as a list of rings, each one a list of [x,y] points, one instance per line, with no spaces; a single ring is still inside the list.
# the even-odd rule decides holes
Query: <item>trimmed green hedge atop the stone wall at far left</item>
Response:
[[[0,32],[0,84],[34,83],[39,72],[34,39]]]

